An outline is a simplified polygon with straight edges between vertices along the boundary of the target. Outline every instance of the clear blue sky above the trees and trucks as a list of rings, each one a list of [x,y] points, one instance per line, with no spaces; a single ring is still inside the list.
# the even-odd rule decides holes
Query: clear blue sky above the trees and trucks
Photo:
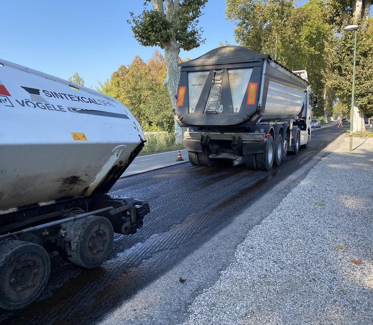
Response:
[[[181,58],[196,58],[226,39],[235,44],[225,2],[207,2],[200,19],[206,43]],[[142,8],[143,0],[2,0],[0,58],[63,79],[79,72],[95,87],[135,55],[152,56],[154,48],[139,45],[126,22]]]

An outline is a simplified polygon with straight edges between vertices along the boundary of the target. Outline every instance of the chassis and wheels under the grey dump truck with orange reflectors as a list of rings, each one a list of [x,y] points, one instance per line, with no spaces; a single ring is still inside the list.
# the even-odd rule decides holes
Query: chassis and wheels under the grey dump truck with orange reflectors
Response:
[[[311,140],[311,128],[301,130],[292,119],[259,122],[248,130],[188,128],[184,132],[184,148],[189,160],[197,166],[213,166],[225,160],[243,159],[250,169],[269,170],[283,162],[287,153],[297,155],[300,146]]]

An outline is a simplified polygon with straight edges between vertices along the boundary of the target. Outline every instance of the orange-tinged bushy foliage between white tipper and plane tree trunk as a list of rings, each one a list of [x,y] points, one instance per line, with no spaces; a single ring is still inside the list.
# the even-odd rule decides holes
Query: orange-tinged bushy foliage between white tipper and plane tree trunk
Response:
[[[136,56],[127,67],[121,65],[110,80],[101,85],[101,92],[126,105],[145,131],[173,131],[170,96],[163,85],[166,62],[155,51],[147,62]]]

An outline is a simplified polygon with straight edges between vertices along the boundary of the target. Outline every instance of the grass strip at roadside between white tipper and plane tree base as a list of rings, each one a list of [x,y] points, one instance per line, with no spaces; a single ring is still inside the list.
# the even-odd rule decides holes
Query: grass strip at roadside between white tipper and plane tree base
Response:
[[[184,149],[182,144],[175,144],[175,135],[168,132],[146,133],[146,142],[139,156],[151,155],[160,152]]]

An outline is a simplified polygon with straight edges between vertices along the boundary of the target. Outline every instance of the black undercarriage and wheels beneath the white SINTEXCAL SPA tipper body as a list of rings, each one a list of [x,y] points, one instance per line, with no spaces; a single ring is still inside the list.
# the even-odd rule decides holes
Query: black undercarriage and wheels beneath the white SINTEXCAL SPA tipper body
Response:
[[[145,201],[92,195],[0,214],[0,307],[23,308],[42,292],[51,269],[48,253],[97,267],[112,248],[114,232],[136,233],[148,212]]]

